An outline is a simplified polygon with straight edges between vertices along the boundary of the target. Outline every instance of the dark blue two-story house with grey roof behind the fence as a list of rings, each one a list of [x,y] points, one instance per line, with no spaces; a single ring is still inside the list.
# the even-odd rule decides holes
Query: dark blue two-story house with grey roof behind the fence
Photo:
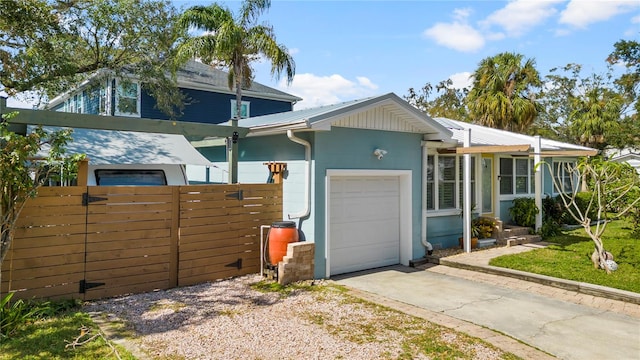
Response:
[[[185,64],[177,73],[177,81],[189,103],[178,120],[219,124],[233,118],[236,95],[235,90],[229,90],[227,77],[228,73],[196,61]],[[291,111],[302,100],[257,82],[243,89],[242,94],[242,117]],[[74,91],[52,99],[47,107],[83,114],[168,120],[155,104],[139,82],[96,73]]]

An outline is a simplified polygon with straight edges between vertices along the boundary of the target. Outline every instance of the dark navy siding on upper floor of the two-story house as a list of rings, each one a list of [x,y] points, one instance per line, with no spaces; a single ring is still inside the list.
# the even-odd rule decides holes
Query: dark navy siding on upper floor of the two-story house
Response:
[[[222,94],[203,90],[181,89],[187,96],[188,105],[179,120],[220,124],[231,118],[231,100],[235,94]],[[288,101],[259,99],[243,96],[242,101],[249,101],[251,116],[261,116],[291,111],[293,105]],[[142,117],[150,119],[169,119],[166,114],[155,107],[155,100],[147,92],[142,92]]]

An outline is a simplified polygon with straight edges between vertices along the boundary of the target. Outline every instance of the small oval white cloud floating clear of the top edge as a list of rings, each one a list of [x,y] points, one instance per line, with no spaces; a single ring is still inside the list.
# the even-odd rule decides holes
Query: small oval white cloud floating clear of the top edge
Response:
[[[462,52],[474,52],[484,46],[484,38],[476,29],[461,22],[437,23],[423,35],[437,44]]]

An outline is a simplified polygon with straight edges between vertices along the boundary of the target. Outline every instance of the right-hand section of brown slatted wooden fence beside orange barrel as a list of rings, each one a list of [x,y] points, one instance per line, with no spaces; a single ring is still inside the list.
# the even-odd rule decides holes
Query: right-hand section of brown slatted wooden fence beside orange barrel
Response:
[[[181,186],[178,285],[259,272],[260,226],[281,217],[281,185]]]

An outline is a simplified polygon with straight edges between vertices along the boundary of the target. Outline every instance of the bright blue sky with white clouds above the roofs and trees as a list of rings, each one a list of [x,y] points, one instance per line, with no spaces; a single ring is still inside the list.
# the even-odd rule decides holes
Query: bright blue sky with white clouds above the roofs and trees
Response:
[[[218,3],[234,13],[240,7]],[[295,109],[389,92],[402,97],[448,78],[461,87],[482,59],[505,51],[535,59],[542,76],[568,63],[603,73],[615,42],[640,41],[638,0],[272,0],[260,20],[293,54],[296,76],[287,86],[271,77],[268,63],[254,63],[255,80],[302,97]]]

